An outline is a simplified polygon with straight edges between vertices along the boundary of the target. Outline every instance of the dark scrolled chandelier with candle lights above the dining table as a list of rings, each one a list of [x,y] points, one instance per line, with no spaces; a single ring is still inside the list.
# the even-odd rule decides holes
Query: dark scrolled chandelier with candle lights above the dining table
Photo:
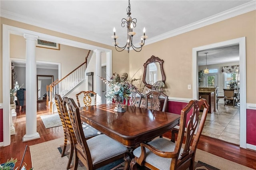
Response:
[[[122,24],[121,26],[124,27],[126,24],[127,27],[127,41],[126,44],[123,47],[118,46],[118,42],[116,42],[116,39],[118,38],[118,36],[116,36],[116,29],[113,29],[114,32],[114,36],[111,36],[111,38],[114,39],[115,42],[113,42],[113,44],[115,45],[116,51],[123,51],[125,48],[127,48],[128,53],[130,51],[130,48],[132,47],[132,49],[134,49],[137,52],[140,52],[142,50],[142,46],[145,43],[146,38],[148,38],[148,36],[145,35],[145,27],[143,29],[143,36],[141,36],[141,42],[139,43],[140,47],[136,47],[134,46],[134,44],[132,43],[132,38],[133,36],[136,34],[136,32],[133,32],[133,28],[136,27],[136,23],[137,23],[137,19],[136,18],[132,18],[130,15],[131,13],[131,5],[130,5],[130,0],[128,0],[128,7],[126,9],[127,11],[127,18],[123,18],[122,19]]]

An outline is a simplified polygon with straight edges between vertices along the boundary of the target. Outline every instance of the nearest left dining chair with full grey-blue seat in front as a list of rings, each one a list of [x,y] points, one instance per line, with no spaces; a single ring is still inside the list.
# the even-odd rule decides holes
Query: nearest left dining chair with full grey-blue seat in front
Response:
[[[64,100],[67,101],[67,98]],[[76,137],[74,170],[78,167],[78,159],[86,166],[86,170],[93,170],[125,157],[127,148],[105,134],[86,140],[82,130],[79,108],[71,98],[68,99],[68,108]],[[126,160],[126,167],[128,167],[128,160]]]

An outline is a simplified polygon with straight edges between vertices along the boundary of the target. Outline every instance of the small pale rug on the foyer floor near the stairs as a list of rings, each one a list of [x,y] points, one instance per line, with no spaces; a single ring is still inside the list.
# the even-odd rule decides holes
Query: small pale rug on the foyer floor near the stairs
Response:
[[[61,120],[58,113],[52,114],[52,115],[42,115],[40,116],[45,128],[52,128],[52,127],[58,127],[61,126]]]

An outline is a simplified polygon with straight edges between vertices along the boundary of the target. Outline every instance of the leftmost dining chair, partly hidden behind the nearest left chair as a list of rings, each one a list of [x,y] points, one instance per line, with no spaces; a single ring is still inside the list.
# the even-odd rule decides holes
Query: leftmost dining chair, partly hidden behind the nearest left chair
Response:
[[[73,157],[74,143],[76,143],[76,141],[72,140],[72,134],[74,134],[74,132],[68,116],[66,102],[62,100],[62,98],[58,94],[54,95],[54,100],[55,100],[56,108],[58,110],[58,114],[60,116],[60,120],[61,120],[63,131],[64,131],[64,146],[62,149],[61,157],[65,156],[67,142],[68,141],[70,142],[70,155],[69,155],[68,164],[67,164],[67,169],[69,169],[72,161],[72,157]],[[83,132],[84,132],[85,138],[92,138],[93,136],[97,136],[101,134],[101,132],[99,132],[98,130],[96,130],[95,128],[91,127],[86,123],[83,123]]]

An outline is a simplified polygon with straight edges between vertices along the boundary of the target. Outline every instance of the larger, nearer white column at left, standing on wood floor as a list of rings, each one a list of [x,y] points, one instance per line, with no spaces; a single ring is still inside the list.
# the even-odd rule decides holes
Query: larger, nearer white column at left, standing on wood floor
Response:
[[[26,38],[26,134],[23,142],[40,138],[36,131],[36,41],[38,36],[24,34]]]

